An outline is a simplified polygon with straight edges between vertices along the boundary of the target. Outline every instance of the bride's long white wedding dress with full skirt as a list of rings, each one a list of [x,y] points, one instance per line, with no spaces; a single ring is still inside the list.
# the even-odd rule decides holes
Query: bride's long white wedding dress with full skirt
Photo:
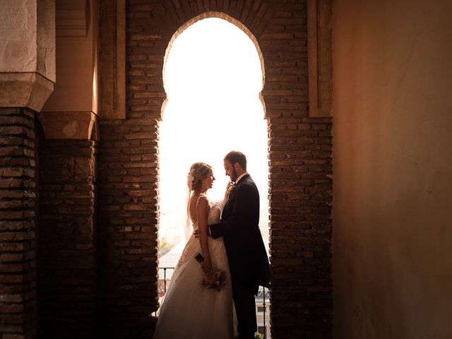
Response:
[[[205,196],[200,196],[206,198]],[[220,206],[209,201],[208,225],[220,221]],[[193,225],[197,232],[198,225]],[[199,239],[191,234],[177,263],[159,310],[154,337],[165,339],[234,338],[231,275],[223,239],[208,237],[212,267],[226,273],[220,291],[203,286],[204,273],[195,256],[202,254]]]

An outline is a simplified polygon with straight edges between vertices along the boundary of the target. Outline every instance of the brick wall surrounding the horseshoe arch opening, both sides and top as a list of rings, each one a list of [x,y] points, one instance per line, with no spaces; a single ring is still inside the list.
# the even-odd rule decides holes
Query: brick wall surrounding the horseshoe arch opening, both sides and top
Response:
[[[127,119],[100,124],[102,331],[138,338],[157,308],[165,50],[187,21],[219,11],[256,37],[266,69],[273,338],[331,337],[332,121],[309,118],[305,1],[129,0],[127,11]]]

